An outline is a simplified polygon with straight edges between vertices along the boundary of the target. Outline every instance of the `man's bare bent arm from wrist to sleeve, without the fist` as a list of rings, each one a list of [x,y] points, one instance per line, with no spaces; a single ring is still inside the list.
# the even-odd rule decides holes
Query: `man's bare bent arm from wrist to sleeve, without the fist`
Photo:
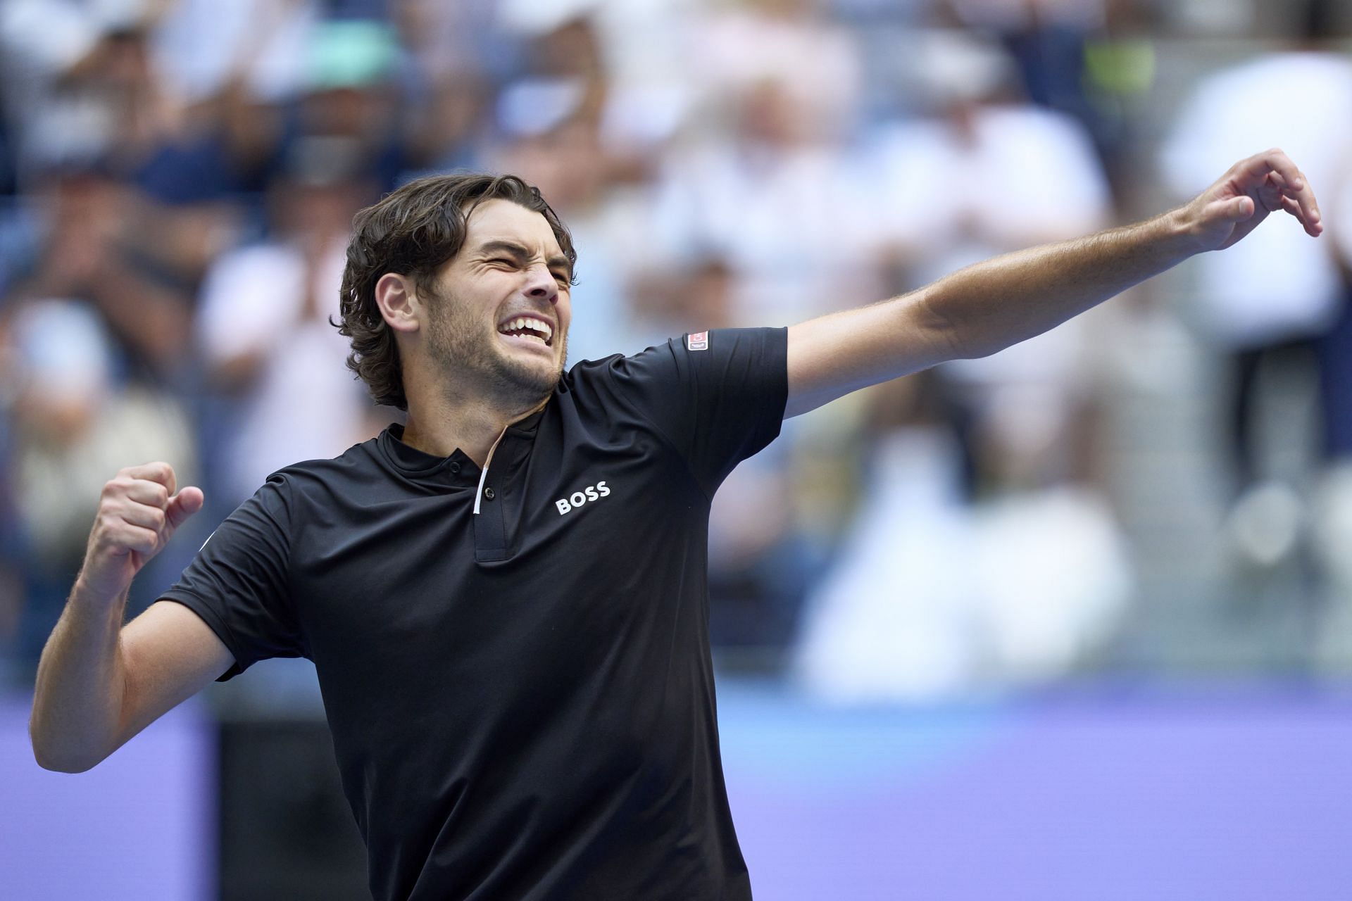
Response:
[[[92,769],[234,663],[216,634],[180,604],[151,604],[122,625],[78,582],[38,663],[28,735],[47,770]]]

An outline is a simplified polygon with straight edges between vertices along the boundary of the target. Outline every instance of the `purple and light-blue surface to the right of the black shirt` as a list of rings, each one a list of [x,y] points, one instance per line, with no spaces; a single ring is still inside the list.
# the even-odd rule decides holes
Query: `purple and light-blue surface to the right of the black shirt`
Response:
[[[1352,693],[719,696],[758,898],[1352,898]]]

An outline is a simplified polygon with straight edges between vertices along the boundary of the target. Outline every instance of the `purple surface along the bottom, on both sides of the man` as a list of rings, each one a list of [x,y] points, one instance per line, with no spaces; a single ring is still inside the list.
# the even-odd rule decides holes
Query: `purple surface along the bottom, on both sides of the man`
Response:
[[[200,708],[82,775],[0,704],[0,897],[214,897]],[[1341,901],[1352,692],[1094,688],[823,709],[723,679],[733,815],[761,901]]]

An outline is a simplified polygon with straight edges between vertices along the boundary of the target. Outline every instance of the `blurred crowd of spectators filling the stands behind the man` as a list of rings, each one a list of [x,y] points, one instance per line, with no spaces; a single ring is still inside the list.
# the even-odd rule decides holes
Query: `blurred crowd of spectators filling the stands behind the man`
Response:
[[[1270,146],[1328,239],[1274,223],[790,420],[715,501],[711,628],[825,697],[923,698],[1148,659],[1202,590],[1183,635],[1238,620],[1272,650],[1290,621],[1241,665],[1347,667],[1349,23],[1333,0],[0,0],[4,678],[30,684],[118,469],[207,494],[137,612],[268,473],[396,417],[329,317],[352,215],[410,178],[539,185],[579,249],[577,361],[903,293]],[[1203,536],[1159,540],[1180,524]]]

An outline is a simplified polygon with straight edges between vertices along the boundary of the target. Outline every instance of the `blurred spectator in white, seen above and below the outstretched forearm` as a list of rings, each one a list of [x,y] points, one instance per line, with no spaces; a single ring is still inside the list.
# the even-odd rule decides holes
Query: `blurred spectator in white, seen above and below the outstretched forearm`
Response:
[[[880,219],[900,290],[1111,220],[1088,138],[1011,96],[999,47],[937,32],[918,50],[937,115],[879,128],[872,166],[898,199]],[[869,492],[810,598],[811,689],[861,700],[1040,681],[1110,634],[1129,570],[1075,453],[1095,403],[1088,324],[875,393],[899,409],[875,416]]]

